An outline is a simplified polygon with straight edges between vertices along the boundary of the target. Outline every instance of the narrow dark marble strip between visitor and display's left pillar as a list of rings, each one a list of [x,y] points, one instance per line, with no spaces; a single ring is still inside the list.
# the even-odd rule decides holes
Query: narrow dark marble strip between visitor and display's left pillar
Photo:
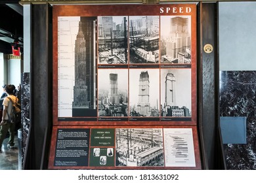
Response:
[[[30,73],[22,73],[22,165],[30,129]]]

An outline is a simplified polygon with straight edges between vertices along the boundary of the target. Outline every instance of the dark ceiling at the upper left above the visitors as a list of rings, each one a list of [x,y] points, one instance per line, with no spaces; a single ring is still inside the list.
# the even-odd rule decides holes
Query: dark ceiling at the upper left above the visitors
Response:
[[[18,2],[0,0],[0,52],[4,54],[12,54],[14,40],[23,50],[23,7]]]

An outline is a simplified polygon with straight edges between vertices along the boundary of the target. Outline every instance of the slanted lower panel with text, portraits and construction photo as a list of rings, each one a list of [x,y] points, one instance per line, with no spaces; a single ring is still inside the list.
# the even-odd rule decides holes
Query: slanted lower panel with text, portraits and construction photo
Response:
[[[56,126],[54,134],[51,169],[200,168],[196,127]]]

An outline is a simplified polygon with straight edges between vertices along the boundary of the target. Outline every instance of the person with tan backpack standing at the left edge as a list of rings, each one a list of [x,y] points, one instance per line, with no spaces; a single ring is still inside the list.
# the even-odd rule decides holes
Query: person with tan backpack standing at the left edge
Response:
[[[0,147],[2,147],[3,140],[7,135],[7,131],[10,133],[9,142],[7,147],[14,148],[14,129],[15,123],[12,122],[13,113],[13,102],[18,102],[18,98],[14,95],[15,86],[9,84],[5,86],[5,92],[7,92],[7,97],[3,100],[3,116],[1,120],[0,129]],[[1,149],[0,149],[1,152]]]

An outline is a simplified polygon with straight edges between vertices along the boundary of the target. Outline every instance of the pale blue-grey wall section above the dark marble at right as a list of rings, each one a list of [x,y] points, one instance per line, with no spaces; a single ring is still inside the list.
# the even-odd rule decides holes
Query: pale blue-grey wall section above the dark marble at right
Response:
[[[219,3],[220,71],[256,71],[256,2]]]

